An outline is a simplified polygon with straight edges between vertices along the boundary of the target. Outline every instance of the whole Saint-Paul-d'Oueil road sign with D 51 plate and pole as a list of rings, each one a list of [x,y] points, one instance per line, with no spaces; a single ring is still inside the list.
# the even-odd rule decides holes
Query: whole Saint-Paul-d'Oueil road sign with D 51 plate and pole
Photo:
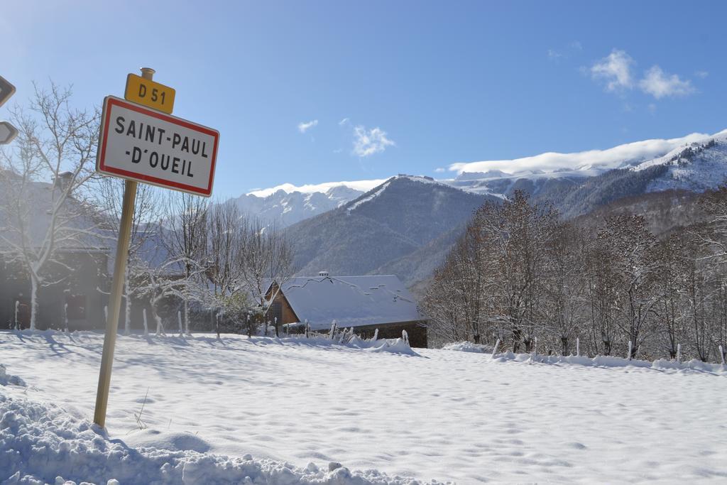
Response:
[[[141,73],[140,79],[133,74],[126,78],[126,98],[168,114],[107,96],[103,100],[96,155],[98,172],[126,179],[93,418],[101,428],[105,426],[111,389],[113,351],[119,330],[137,182],[209,197],[220,141],[220,133],[215,129],[169,116],[174,105],[174,89],[152,81],[152,68],[141,68]]]

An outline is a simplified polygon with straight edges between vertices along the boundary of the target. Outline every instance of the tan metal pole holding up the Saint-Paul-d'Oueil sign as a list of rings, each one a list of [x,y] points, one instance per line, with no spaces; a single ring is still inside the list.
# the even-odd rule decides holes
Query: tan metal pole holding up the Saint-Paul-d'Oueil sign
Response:
[[[154,70],[152,68],[141,68],[141,74],[142,78],[151,81],[154,76]],[[132,235],[136,189],[137,182],[134,180],[124,181],[124,203],[121,206],[119,242],[116,245],[116,260],[113,262],[111,297],[109,298],[108,320],[106,321],[106,334],[103,339],[101,371],[98,377],[96,409],[93,417],[93,421],[101,428],[104,428],[106,424],[106,407],[108,406],[108,390],[111,388],[113,350],[116,347],[116,332],[119,329],[119,313],[121,313],[121,297],[123,296],[124,291],[126,260],[129,256],[129,240]]]

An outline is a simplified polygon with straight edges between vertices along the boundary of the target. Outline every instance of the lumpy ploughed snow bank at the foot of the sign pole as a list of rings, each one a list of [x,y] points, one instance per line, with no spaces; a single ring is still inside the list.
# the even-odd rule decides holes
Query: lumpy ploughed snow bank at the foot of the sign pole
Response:
[[[2,367],[4,371],[4,367]],[[11,377],[12,379],[12,377]],[[147,436],[156,446],[129,447],[91,422],[55,404],[0,388],[0,480],[2,484],[417,484],[376,470],[350,471],[339,463],[321,469],[287,462],[208,454],[191,433]],[[436,482],[432,482],[436,483]]]

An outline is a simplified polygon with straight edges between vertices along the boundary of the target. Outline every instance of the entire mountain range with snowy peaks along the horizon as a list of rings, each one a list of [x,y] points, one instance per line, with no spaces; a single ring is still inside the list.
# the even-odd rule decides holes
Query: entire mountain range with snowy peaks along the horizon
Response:
[[[515,190],[552,202],[562,217],[571,218],[646,193],[715,188],[727,177],[727,130],[521,161],[522,169],[513,169],[520,168],[513,166],[518,161],[475,162],[459,167],[457,177],[448,180],[398,175],[287,184],[236,201],[246,212],[292,226],[288,231],[297,241],[299,274],[321,269],[339,275],[394,273],[412,286],[441,262],[474,209]]]

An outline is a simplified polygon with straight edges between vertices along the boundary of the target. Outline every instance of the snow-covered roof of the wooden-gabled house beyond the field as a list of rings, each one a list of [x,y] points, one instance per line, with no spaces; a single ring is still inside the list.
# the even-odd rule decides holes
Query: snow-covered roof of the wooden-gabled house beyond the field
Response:
[[[301,321],[314,330],[423,320],[417,302],[399,278],[382,276],[298,276],[281,290]]]

